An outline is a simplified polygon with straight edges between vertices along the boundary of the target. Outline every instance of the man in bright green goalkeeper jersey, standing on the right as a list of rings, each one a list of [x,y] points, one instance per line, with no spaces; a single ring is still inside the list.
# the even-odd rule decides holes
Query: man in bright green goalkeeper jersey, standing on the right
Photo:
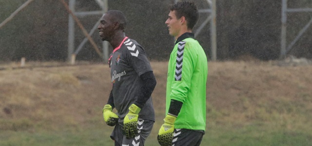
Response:
[[[170,55],[166,91],[166,117],[158,132],[161,146],[199,146],[206,129],[207,57],[194,39],[198,19],[194,2],[170,6],[166,20],[175,37]]]

